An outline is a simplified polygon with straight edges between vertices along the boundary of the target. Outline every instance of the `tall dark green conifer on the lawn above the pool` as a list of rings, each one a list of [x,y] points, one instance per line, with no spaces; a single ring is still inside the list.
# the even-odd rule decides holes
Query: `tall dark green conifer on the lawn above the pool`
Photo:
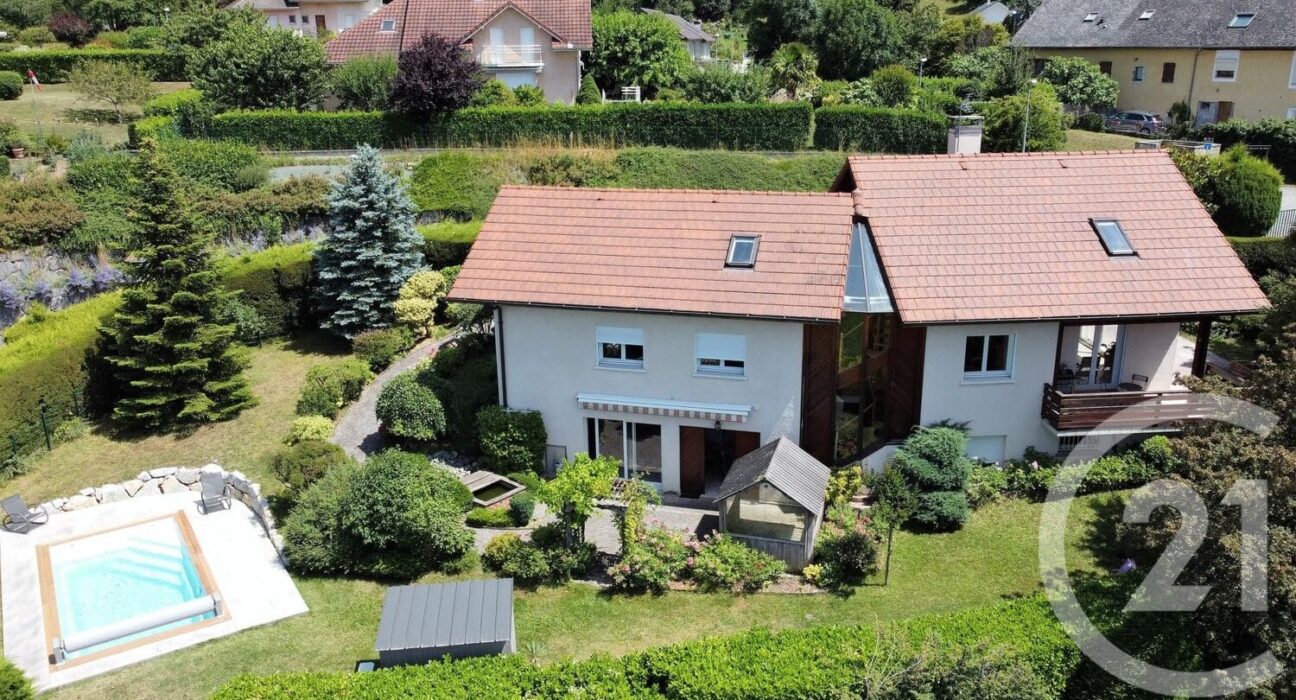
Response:
[[[180,183],[157,145],[140,149],[131,218],[139,249],[122,306],[100,329],[111,375],[113,419],[161,429],[224,420],[255,404],[233,346],[235,327],[216,315],[231,297],[220,286]]]

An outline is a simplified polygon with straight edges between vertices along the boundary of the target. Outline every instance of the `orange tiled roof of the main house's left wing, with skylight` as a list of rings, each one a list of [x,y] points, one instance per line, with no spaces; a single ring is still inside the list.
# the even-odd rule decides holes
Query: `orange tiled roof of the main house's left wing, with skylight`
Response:
[[[849,194],[505,187],[450,296],[836,321],[850,228]],[[754,268],[724,267],[734,233]]]

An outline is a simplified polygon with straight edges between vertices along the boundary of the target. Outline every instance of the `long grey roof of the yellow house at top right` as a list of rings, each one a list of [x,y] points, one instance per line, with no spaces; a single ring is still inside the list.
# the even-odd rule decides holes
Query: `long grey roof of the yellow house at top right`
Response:
[[[1139,19],[1144,10],[1156,10]],[[1240,12],[1256,13],[1245,29],[1230,29]],[[1085,22],[1089,13],[1098,19]],[[1100,21],[1099,21],[1100,19]],[[1292,0],[1048,0],[1030,16],[1013,43],[1032,48],[1293,48]]]

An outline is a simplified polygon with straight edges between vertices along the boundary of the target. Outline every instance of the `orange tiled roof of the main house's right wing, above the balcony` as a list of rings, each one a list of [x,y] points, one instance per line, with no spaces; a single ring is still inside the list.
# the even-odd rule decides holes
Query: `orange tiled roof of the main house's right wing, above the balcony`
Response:
[[[1163,152],[851,157],[848,167],[906,323],[1267,305]],[[1090,218],[1120,220],[1138,255],[1109,257]]]

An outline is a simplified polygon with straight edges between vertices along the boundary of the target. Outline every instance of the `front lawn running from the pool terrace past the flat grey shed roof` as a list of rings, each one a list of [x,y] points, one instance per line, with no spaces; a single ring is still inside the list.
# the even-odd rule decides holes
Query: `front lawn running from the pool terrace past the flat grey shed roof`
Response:
[[[1076,508],[1073,568],[1094,570],[1081,542],[1095,499]],[[896,620],[995,603],[1039,589],[1036,554],[1041,506],[1006,500],[978,511],[959,533],[901,534],[890,586],[832,595],[670,592],[608,596],[584,585],[517,595],[518,651],[542,661],[621,655],[651,646],[750,627],[804,627]],[[434,581],[429,577],[428,581]],[[298,579],[306,616],[238,633],[51,694],[58,700],[98,697],[207,697],[240,674],[350,670],[375,656],[384,587],[345,579]]]

